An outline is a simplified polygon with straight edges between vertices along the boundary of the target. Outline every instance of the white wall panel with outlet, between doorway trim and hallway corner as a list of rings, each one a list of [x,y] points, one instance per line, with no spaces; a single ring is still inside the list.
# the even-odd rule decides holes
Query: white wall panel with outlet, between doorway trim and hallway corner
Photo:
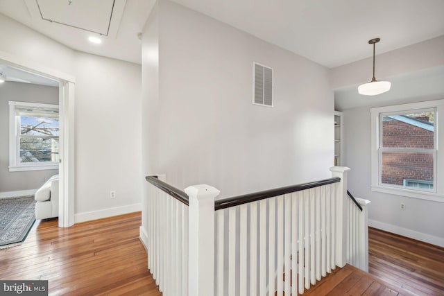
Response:
[[[139,204],[140,65],[75,57],[76,214]]]

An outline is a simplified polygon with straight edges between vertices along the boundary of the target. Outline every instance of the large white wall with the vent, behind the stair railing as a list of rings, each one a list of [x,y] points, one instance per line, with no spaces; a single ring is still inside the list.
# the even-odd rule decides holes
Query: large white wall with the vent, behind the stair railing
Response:
[[[158,156],[144,174],[165,173],[180,189],[210,184],[220,197],[330,177],[334,108],[325,67],[171,1],[155,13],[144,39],[151,32],[155,40],[157,30]],[[274,69],[273,108],[252,105],[253,61]],[[150,79],[142,75],[144,85]]]

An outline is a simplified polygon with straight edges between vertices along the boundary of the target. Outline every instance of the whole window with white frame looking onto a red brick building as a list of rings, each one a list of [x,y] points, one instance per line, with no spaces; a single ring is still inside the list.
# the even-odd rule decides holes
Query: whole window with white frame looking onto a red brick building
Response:
[[[440,110],[444,100],[371,109],[373,191],[444,202],[436,174]]]

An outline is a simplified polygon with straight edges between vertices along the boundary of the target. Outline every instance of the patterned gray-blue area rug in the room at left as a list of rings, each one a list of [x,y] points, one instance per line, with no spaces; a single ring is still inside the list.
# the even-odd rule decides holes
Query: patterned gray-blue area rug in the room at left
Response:
[[[0,249],[22,243],[34,222],[33,195],[0,199]]]

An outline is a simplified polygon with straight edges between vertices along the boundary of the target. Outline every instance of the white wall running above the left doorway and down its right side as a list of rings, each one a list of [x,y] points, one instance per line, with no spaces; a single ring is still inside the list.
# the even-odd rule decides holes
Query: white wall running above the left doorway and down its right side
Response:
[[[140,210],[140,65],[73,51],[3,15],[0,40],[0,51],[76,77],[76,222]]]

